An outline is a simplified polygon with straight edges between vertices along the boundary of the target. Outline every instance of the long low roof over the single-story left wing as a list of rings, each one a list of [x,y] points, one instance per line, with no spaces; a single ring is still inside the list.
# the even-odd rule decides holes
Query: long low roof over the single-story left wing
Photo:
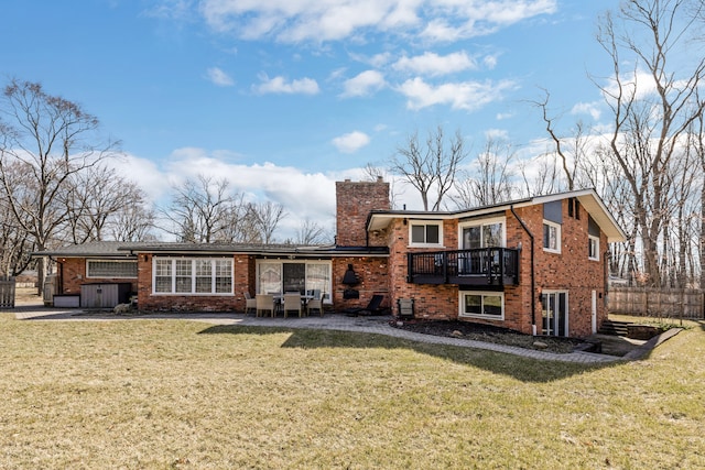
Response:
[[[284,256],[386,256],[387,247],[335,247],[252,243],[181,243],[181,242],[121,242],[96,241],[70,244],[32,253],[34,256],[65,258],[134,258],[140,253],[160,254],[258,254]]]

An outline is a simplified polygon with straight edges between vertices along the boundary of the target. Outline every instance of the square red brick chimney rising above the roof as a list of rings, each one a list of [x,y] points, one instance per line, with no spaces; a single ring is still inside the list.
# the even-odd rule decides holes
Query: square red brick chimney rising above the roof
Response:
[[[336,182],[336,244],[365,247],[367,217],[372,210],[389,210],[389,183],[381,176],[376,182]]]

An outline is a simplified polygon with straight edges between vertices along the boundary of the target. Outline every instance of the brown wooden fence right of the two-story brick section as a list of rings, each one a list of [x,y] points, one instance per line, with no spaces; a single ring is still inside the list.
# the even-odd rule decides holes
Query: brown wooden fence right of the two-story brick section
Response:
[[[693,288],[610,287],[610,314],[665,318],[705,318],[703,291]]]

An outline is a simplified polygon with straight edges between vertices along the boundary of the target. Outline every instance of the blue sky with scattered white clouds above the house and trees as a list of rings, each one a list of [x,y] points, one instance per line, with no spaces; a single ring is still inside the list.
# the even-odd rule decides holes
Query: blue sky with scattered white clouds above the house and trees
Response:
[[[155,204],[198,175],[333,230],[335,182],[417,132],[544,150],[531,101],[599,124],[595,40],[617,0],[4,0],[0,78],[41,83],[121,141]],[[469,162],[469,160],[468,160]],[[397,204],[421,209],[395,184]]]

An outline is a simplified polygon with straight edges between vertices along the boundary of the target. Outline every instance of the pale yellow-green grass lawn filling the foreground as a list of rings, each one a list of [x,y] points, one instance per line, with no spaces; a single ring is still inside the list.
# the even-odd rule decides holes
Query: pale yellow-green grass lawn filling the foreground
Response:
[[[609,367],[0,315],[0,468],[704,468],[705,332]]]

